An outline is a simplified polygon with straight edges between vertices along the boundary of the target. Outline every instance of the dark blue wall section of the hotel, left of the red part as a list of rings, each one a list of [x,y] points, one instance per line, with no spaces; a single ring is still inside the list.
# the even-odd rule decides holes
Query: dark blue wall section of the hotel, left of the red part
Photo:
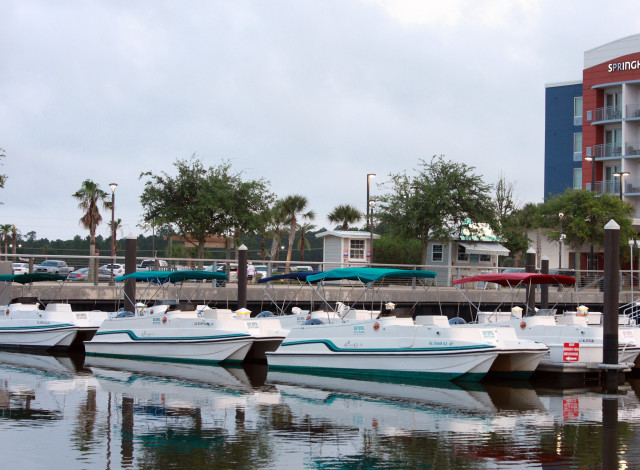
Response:
[[[582,123],[574,125],[574,98],[582,96],[582,83],[548,85],[545,89],[544,198],[573,188],[575,168],[573,135],[582,132]]]

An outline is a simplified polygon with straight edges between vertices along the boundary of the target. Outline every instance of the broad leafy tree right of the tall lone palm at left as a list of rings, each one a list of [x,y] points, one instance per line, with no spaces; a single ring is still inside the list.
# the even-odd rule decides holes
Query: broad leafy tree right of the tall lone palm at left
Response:
[[[268,210],[273,195],[268,182],[244,180],[229,162],[205,168],[192,156],[174,163],[176,176],[166,172],[147,178],[140,196],[143,218],[156,226],[170,226],[196,246],[196,257],[203,258],[209,237],[255,233],[260,214]]]

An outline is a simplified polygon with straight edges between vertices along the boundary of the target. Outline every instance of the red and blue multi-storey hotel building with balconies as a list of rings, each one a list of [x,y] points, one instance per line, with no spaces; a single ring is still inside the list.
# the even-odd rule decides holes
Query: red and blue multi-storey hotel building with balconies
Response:
[[[582,81],[546,85],[544,197],[567,188],[620,195],[640,229],[640,34],[586,51]]]

